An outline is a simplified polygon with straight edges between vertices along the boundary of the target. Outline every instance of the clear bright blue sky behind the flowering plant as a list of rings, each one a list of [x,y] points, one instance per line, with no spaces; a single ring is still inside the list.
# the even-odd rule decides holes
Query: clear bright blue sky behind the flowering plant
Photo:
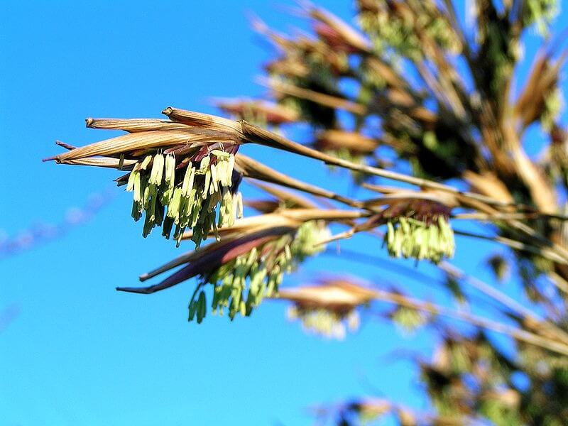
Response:
[[[426,408],[412,364],[388,355],[402,344],[430,356],[429,332],[406,339],[369,319],[330,342],[307,336],[270,302],[250,319],[197,326],[186,322],[192,283],[151,296],[116,293],[182,249],[141,238],[131,197],[111,185],[115,172],[40,159],[61,151],[56,139],[82,145],[112,134],[85,129],[87,116],[155,117],[168,105],[214,112],[209,97],[261,94],[254,77],[268,51],[246,11],[281,29],[300,22],[264,0],[97,3],[0,4],[0,229],[17,236],[61,222],[93,194],[116,195],[65,236],[0,258],[0,310],[19,312],[0,330],[0,425],[302,425],[312,421],[310,405],[359,395]],[[349,1],[320,4],[350,19]],[[330,183],[322,165],[245,151]],[[383,256],[372,239],[345,246]],[[478,268],[468,247],[457,263]],[[320,256],[286,283],[354,267],[381,285],[395,280]],[[487,278],[483,268],[479,275]],[[434,297],[429,284],[405,283]]]

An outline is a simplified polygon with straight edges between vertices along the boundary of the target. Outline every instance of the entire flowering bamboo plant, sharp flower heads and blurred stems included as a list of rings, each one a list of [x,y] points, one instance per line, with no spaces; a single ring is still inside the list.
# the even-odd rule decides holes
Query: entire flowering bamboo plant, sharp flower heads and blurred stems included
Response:
[[[188,317],[197,322],[211,312],[246,317],[263,300],[284,300],[291,320],[327,337],[356,330],[361,315],[438,332],[432,359],[416,359],[430,410],[361,398],[315,408],[322,420],[565,425],[566,54],[550,33],[558,3],[472,0],[464,19],[451,0],[358,0],[351,24],[302,2],[296,14],[308,32],[253,22],[273,45],[260,80],[266,99],[218,99],[225,116],[168,107],[165,119],[87,119],[89,128],[126,133],[80,148],[59,143],[67,151],[50,160],[122,170],[116,182],[133,193],[131,215],[143,217],[143,236],[161,227],[179,246],[192,244],[140,277],[166,274],[157,283],[117,290],[149,294],[195,278]],[[520,78],[531,31],[542,47]],[[310,129],[307,143],[285,136],[298,124]],[[534,127],[545,135],[539,155],[526,150]],[[274,170],[245,155],[249,144],[349,170],[333,176],[351,180],[361,196]],[[243,200],[240,185],[256,186],[266,199]],[[482,231],[466,230],[464,221]],[[331,241],[360,234],[392,257],[396,288],[354,276],[282,286]],[[496,280],[517,276],[530,306],[451,263],[466,239],[502,246],[479,261]],[[372,251],[339,256],[381,266]],[[456,305],[408,294],[403,277],[420,272],[398,258],[430,263]],[[479,303],[474,295],[492,315],[468,309]],[[470,327],[453,327],[456,321]],[[515,354],[503,354],[490,332],[512,339]],[[518,385],[518,374],[528,385]]]

